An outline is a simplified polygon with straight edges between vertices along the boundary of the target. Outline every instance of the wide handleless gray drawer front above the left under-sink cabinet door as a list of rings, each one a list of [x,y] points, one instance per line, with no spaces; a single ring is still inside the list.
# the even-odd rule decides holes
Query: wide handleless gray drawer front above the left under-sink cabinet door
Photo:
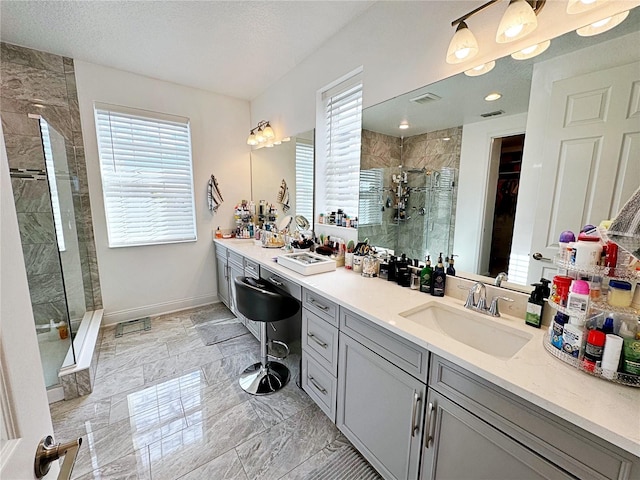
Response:
[[[340,330],[418,380],[427,382],[429,352],[340,307]]]

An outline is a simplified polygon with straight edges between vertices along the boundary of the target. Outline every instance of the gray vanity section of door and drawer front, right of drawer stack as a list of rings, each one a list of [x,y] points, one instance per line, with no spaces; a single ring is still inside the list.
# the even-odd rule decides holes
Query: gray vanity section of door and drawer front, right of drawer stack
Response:
[[[340,309],[336,425],[384,478],[415,480],[428,353],[383,330]]]

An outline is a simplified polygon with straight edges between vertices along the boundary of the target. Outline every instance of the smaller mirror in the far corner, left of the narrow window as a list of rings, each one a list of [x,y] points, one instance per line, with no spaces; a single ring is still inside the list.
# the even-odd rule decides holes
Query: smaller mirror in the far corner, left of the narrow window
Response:
[[[278,218],[303,216],[313,222],[314,131],[301,133],[273,147],[251,152],[251,197],[278,209]],[[279,201],[286,184],[289,208]],[[284,200],[287,200],[285,198]]]

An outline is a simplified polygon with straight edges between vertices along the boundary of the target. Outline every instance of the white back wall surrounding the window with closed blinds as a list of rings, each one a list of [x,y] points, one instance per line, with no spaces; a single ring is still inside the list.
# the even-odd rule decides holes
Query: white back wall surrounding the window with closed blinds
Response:
[[[75,62],[91,212],[105,323],[169,312],[216,300],[211,230],[233,226],[233,207],[249,199],[249,103],[86,62]],[[181,115],[191,121],[198,240],[170,245],[109,248],[98,163],[93,102]],[[214,174],[224,203],[207,206]]]

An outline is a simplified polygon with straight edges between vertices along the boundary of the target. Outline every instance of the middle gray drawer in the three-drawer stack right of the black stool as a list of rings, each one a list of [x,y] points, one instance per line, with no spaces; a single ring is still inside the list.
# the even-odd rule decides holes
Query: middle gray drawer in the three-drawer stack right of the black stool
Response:
[[[302,349],[334,376],[338,375],[338,329],[302,310]]]

